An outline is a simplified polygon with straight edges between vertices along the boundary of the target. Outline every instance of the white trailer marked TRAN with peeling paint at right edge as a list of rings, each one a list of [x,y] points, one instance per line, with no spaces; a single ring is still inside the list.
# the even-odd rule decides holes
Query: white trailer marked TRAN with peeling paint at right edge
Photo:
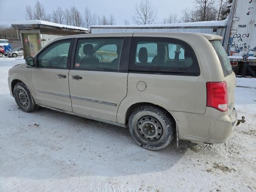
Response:
[[[227,52],[236,74],[256,76],[256,0],[235,0],[230,12]]]

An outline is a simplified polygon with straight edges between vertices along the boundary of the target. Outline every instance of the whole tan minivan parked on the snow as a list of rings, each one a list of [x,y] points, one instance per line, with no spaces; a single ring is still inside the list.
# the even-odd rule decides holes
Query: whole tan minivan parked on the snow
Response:
[[[150,150],[174,136],[225,142],[236,125],[236,77],[222,37],[196,33],[65,36],[9,70],[25,112],[37,106],[128,127]]]

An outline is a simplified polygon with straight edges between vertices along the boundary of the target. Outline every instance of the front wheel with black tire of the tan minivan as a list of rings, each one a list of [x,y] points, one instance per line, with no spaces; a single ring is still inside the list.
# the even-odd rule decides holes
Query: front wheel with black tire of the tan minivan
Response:
[[[22,111],[30,113],[37,109],[37,105],[24,83],[17,83],[14,86],[13,95],[18,107]]]

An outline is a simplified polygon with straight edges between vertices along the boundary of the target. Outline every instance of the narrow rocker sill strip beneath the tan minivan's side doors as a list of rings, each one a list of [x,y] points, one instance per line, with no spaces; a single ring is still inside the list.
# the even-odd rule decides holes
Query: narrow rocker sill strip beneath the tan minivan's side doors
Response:
[[[72,115],[76,115],[76,116],[80,116],[80,117],[83,117],[83,118],[88,118],[88,119],[92,119],[92,120],[96,120],[96,121],[100,121],[100,122],[104,122],[104,123],[108,123],[108,124],[112,124],[112,125],[128,128],[127,125],[121,124],[121,123],[118,123],[118,122],[104,120],[104,119],[100,119],[100,118],[96,118],[96,117],[92,117],[92,116],[88,116],[88,115],[83,115],[83,114],[79,114],[79,113],[74,113],[74,112],[71,112],[71,111],[61,110],[61,109],[58,109],[58,108],[49,107],[49,106],[38,104],[38,103],[36,103],[36,104],[39,105],[39,106],[48,108],[48,109],[52,109],[52,110],[56,110],[56,111],[60,111],[60,112],[64,112],[64,113],[68,113],[68,114],[72,114]]]

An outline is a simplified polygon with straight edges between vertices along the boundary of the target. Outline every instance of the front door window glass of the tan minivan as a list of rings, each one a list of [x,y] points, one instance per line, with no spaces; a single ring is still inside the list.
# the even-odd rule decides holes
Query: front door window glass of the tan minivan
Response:
[[[43,50],[38,56],[38,67],[66,68],[71,40],[57,42]]]

